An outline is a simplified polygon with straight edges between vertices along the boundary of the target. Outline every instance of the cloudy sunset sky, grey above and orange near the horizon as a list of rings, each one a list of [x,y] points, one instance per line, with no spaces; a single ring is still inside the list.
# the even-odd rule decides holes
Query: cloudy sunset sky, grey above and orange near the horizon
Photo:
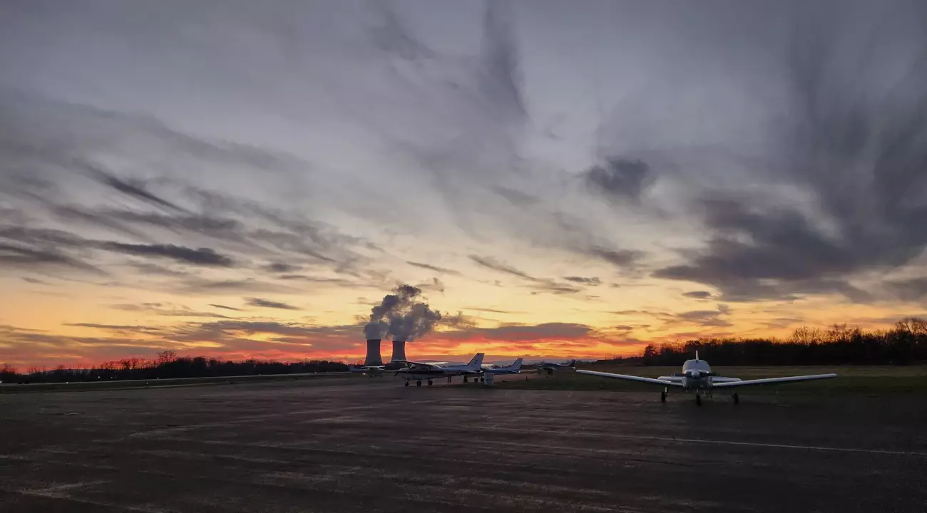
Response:
[[[925,315],[927,8],[808,4],[3,2],[0,362]]]

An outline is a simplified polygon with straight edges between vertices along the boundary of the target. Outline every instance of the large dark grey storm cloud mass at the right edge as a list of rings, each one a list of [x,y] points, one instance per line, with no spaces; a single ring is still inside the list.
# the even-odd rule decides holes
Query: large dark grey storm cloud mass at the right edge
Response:
[[[710,284],[731,300],[838,293],[865,301],[871,295],[850,283],[855,275],[903,267],[921,254],[927,17],[915,11],[907,27],[895,23],[907,12],[899,8],[865,31],[808,14],[784,65],[793,106],[773,131],[772,178],[806,192],[817,212],[771,204],[762,192],[705,196],[695,211],[713,233],[705,249],[654,276]]]

